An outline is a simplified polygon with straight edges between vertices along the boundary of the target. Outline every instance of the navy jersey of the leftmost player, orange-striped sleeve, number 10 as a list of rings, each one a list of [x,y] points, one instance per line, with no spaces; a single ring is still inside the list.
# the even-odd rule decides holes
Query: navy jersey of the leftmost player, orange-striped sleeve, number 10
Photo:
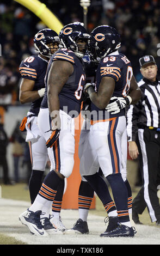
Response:
[[[20,64],[20,74],[22,78],[35,81],[33,90],[45,88],[45,75],[48,62],[40,56],[30,56],[24,59]],[[38,115],[42,97],[31,103],[30,112]]]

